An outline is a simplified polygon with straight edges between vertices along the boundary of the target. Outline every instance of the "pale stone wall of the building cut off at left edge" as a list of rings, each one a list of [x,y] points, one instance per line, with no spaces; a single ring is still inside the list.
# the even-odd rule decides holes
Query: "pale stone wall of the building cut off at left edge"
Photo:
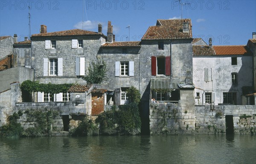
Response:
[[[0,40],[0,59],[12,54],[14,40],[11,36]]]

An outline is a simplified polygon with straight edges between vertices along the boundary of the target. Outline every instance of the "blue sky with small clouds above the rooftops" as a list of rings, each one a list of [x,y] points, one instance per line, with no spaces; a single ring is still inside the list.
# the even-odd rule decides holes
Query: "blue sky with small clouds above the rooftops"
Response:
[[[0,36],[29,37],[29,7],[31,34],[42,24],[47,32],[97,32],[101,23],[107,35],[110,20],[116,41],[138,41],[158,19],[181,18],[192,20],[194,38],[212,37],[212,45],[246,45],[256,32],[256,0],[0,0]]]

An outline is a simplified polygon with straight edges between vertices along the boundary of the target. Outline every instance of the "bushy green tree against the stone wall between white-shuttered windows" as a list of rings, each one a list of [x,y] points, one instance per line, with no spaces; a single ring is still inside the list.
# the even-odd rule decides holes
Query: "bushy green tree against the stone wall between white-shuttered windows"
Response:
[[[107,65],[105,61],[98,58],[97,62],[92,62],[88,69],[88,75],[84,77],[84,79],[88,83],[101,83],[107,78]]]

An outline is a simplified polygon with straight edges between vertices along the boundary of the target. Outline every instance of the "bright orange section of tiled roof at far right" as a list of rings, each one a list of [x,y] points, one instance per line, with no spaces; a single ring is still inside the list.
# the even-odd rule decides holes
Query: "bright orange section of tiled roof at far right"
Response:
[[[247,46],[213,46],[216,55],[252,55]]]

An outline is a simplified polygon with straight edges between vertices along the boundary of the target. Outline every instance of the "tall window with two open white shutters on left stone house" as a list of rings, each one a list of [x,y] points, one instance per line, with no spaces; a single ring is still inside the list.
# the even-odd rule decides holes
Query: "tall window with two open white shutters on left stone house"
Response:
[[[63,59],[44,58],[44,76],[63,76]]]

